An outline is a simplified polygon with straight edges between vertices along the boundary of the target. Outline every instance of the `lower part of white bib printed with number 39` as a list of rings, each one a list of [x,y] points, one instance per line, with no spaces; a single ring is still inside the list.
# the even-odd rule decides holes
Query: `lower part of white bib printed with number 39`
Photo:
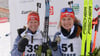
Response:
[[[33,40],[25,48],[25,56],[36,56],[35,50],[38,50],[38,47],[42,45],[42,40]]]

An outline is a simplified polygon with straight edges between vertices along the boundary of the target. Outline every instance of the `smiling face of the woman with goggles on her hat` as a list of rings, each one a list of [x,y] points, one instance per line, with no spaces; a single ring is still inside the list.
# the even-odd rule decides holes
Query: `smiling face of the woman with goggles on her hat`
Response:
[[[74,20],[72,17],[63,17],[60,24],[64,29],[69,31],[74,24]]]

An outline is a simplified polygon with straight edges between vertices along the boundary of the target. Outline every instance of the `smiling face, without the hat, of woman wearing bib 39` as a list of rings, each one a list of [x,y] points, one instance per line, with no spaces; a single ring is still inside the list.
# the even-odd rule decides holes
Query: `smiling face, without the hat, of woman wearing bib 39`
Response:
[[[37,20],[31,19],[27,25],[32,32],[35,32],[39,27],[39,22]]]

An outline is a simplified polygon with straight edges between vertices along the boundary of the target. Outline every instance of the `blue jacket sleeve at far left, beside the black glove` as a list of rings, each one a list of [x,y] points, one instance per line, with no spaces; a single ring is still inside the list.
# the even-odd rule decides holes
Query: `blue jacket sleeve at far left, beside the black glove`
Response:
[[[18,42],[20,38],[21,37],[17,36],[17,38],[15,39],[13,49],[11,50],[11,56],[22,56],[22,52],[18,51]]]

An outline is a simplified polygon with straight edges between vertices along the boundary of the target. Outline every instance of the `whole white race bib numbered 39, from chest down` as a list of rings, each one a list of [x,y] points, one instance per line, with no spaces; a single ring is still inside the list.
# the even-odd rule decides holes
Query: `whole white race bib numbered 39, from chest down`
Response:
[[[33,56],[38,46],[42,45],[42,35],[40,32],[36,32],[36,34],[27,33],[27,36],[29,36],[30,39],[28,45],[25,47],[25,55]],[[31,36],[33,36],[33,43],[31,42]]]

